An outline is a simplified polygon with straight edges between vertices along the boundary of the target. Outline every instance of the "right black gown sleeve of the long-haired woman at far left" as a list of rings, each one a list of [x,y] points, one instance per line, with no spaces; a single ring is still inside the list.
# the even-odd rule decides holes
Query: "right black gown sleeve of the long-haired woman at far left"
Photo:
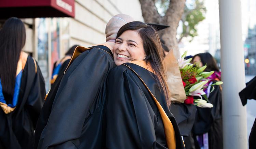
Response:
[[[35,69],[30,69],[30,72],[28,73],[35,73],[35,77],[33,78],[33,83],[32,87],[26,102],[26,105],[28,107],[28,113],[30,114],[30,117],[33,122],[33,128],[35,129],[35,126],[37,124],[37,120],[41,111],[41,108],[44,103],[44,97],[45,97],[45,82],[43,75],[41,73],[41,70],[37,65],[36,72],[34,71]],[[31,79],[31,78],[28,78]]]

